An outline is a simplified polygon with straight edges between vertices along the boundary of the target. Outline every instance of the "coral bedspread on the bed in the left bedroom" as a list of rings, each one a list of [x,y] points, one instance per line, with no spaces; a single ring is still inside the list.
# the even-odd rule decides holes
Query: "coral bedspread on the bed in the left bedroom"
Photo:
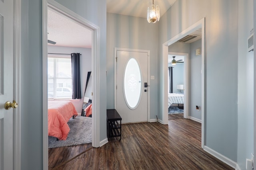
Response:
[[[48,136],[66,140],[70,131],[67,122],[73,115],[78,113],[69,100],[48,100]]]

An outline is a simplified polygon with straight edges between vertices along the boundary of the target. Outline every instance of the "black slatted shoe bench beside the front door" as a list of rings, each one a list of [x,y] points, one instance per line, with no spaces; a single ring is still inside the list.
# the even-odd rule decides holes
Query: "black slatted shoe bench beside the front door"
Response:
[[[116,109],[107,109],[107,136],[120,137],[121,140],[121,121],[122,117]]]

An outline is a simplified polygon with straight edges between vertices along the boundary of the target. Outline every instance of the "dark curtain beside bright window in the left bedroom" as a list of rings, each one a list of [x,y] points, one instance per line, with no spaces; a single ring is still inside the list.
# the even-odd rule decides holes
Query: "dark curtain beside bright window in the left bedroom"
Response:
[[[80,86],[80,53],[71,54],[72,65],[72,99],[81,99]]]

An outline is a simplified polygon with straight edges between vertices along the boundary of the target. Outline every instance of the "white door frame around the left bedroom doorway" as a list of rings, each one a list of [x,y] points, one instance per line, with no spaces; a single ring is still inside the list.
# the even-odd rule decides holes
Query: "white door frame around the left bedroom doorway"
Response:
[[[92,118],[92,146],[100,147],[100,110],[98,104],[100,104],[100,43],[99,43],[99,27],[94,25],[83,17],[72,12],[68,8],[55,2],[54,0],[42,1],[42,44],[43,44],[43,169],[48,170],[48,95],[47,95],[47,56],[48,56],[48,43],[47,43],[47,10],[53,9],[63,16],[71,19],[72,21],[79,23],[80,25],[92,30],[92,111],[94,116]]]

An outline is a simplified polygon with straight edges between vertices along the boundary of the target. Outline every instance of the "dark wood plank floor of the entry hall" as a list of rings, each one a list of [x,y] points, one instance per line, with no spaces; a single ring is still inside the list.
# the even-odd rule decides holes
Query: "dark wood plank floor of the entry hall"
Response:
[[[49,149],[49,170],[234,170],[201,148],[201,124],[193,120],[124,124],[122,140],[118,139],[60,168],[56,167],[91,144]]]

